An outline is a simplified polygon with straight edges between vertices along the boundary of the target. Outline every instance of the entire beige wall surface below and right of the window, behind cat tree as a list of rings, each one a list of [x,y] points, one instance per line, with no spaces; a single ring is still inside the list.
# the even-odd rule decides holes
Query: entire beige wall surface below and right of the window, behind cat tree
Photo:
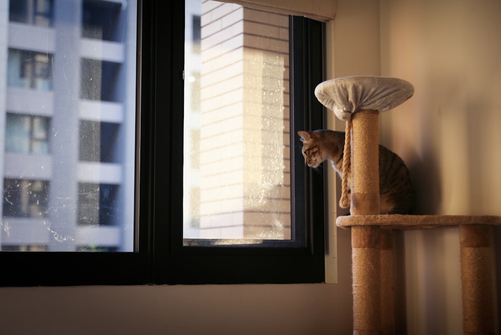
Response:
[[[409,101],[382,115],[381,142],[408,163],[420,213],[500,214],[500,6],[338,0],[336,22],[328,26],[336,40],[328,48],[329,77],[395,76],[415,87]],[[344,129],[329,118],[330,127]],[[351,333],[350,235],[332,224],[337,212],[329,209],[337,284],[0,288],[2,329]],[[408,333],[461,333],[457,231],[406,232],[397,242],[406,262]]]

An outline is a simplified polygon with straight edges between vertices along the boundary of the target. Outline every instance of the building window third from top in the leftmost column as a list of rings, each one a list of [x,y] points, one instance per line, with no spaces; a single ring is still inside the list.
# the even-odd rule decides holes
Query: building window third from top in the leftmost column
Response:
[[[6,152],[49,154],[50,123],[45,116],[7,113]]]

